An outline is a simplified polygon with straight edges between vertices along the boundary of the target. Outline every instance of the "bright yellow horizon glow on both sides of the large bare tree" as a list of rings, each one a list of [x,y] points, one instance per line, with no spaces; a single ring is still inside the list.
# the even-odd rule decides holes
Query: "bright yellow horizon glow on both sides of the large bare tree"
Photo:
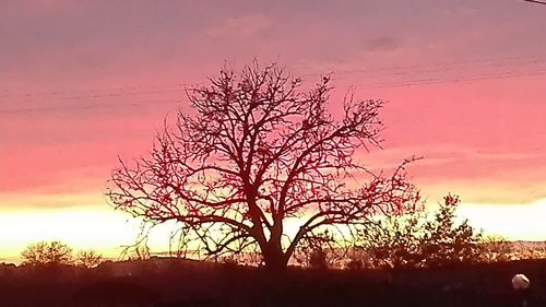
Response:
[[[459,219],[486,234],[510,240],[546,240],[546,199],[529,204],[462,203]],[[287,231],[299,226],[288,221]],[[149,245],[152,251],[167,251],[173,224],[155,228]],[[0,262],[17,262],[21,251],[39,240],[61,240],[73,249],[95,249],[105,257],[117,258],[122,246],[134,243],[139,221],[109,208],[71,206],[0,211]]]

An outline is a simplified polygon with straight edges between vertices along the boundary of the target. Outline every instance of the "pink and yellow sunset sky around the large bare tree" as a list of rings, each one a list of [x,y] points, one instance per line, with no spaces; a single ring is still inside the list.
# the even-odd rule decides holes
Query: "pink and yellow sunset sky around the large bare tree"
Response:
[[[0,1],[0,261],[41,239],[118,255],[138,233],[104,197],[118,156],[146,155],[185,86],[253,59],[333,73],[334,114],[351,87],[385,99],[363,161],[423,156],[429,203],[546,240],[545,33],[522,0]]]

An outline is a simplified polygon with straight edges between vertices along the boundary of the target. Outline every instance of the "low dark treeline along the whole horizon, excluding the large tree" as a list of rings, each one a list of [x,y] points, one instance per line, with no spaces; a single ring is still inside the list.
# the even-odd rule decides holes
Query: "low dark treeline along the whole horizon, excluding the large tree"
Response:
[[[378,220],[358,235],[359,241],[347,244],[329,233],[305,239],[292,264],[312,269],[404,269],[436,268],[456,263],[502,262],[544,258],[544,249],[518,250],[501,237],[484,236],[468,221],[456,223],[458,197],[448,196],[437,211],[417,208],[404,215]],[[124,259],[151,257],[145,246],[127,250]],[[94,250],[74,251],[60,241],[29,245],[21,253],[22,264],[69,264],[94,268],[105,261]],[[211,260],[211,259],[207,259]],[[229,255],[212,258],[213,262],[260,267],[260,253]]]

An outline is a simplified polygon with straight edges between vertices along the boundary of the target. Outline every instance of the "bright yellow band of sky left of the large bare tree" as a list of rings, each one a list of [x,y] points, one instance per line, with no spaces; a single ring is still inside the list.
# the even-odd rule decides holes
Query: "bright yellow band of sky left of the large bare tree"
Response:
[[[29,244],[61,240],[74,249],[96,249],[107,257],[134,240],[138,224],[103,209],[62,208],[1,212],[0,259],[16,261]]]

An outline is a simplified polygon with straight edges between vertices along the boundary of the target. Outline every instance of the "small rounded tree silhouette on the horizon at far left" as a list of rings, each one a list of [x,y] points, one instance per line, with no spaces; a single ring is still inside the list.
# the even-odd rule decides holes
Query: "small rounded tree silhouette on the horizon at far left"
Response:
[[[72,248],[60,241],[39,241],[21,252],[22,264],[71,264]]]

